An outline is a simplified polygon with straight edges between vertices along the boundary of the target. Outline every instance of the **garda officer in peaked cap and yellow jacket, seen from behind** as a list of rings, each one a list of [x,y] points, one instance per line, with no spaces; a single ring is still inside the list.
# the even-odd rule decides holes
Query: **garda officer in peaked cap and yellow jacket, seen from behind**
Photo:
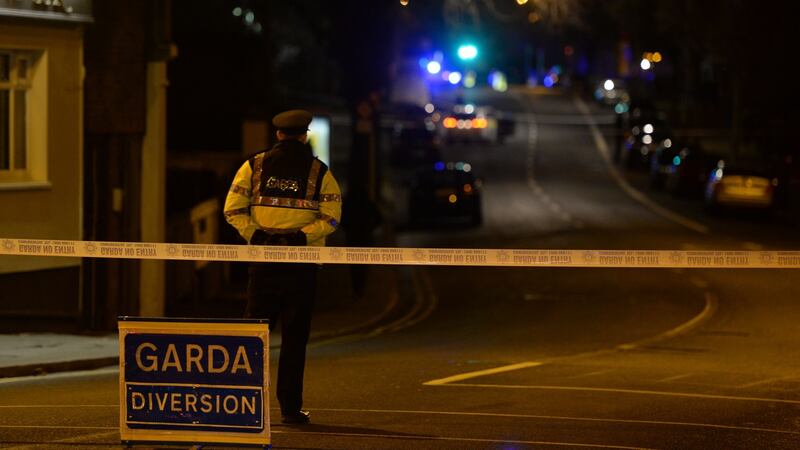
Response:
[[[324,246],[339,224],[339,185],[307,145],[310,123],[308,111],[275,116],[278,143],[236,173],[225,219],[251,245]],[[303,371],[317,269],[297,263],[254,263],[249,269],[246,317],[281,324],[276,394],[284,423],[309,422],[302,410]]]

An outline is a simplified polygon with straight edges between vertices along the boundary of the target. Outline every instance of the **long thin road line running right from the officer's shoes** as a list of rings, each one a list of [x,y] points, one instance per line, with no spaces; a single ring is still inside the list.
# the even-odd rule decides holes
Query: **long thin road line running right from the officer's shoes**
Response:
[[[454,385],[455,386],[455,385]],[[575,422],[609,422],[609,423],[630,423],[642,425],[669,425],[693,428],[714,428],[723,430],[739,431],[760,431],[765,433],[780,433],[800,435],[796,430],[778,430],[774,428],[743,427],[737,425],[721,425],[713,423],[695,422],[675,422],[665,420],[643,420],[643,419],[615,419],[606,417],[576,417],[576,416],[550,416],[538,414],[511,414],[511,413],[488,413],[488,412],[461,412],[461,411],[415,411],[415,410],[392,410],[392,409],[345,409],[345,408],[311,408],[320,412],[344,412],[344,413],[369,413],[369,414],[413,414],[413,415],[436,415],[436,416],[465,416],[465,417],[497,417],[508,419],[540,419],[540,420],[564,420]],[[275,408],[278,410],[278,408]]]

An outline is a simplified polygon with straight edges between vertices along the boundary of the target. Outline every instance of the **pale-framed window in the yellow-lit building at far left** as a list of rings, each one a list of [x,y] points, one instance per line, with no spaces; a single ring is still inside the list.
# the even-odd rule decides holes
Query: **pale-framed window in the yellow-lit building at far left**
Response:
[[[37,52],[0,49],[0,183],[46,178],[46,141],[34,135],[43,123],[32,123],[34,117],[46,121],[46,85],[43,75],[36,77],[41,59]]]

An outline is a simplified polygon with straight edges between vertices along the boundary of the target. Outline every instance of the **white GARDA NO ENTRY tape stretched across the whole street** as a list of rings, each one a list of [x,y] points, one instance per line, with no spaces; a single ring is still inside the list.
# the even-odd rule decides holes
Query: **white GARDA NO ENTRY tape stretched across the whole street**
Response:
[[[272,247],[11,238],[0,238],[0,255],[475,267],[800,268],[800,251]]]

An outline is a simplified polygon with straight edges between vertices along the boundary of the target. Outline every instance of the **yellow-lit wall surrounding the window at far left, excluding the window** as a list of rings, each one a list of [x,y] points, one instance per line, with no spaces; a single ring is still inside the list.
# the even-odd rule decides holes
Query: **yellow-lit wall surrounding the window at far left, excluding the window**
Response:
[[[30,126],[46,133],[46,172],[38,180],[0,183],[0,235],[12,238],[81,239],[83,171],[83,36],[80,25],[0,18],[0,48],[42,52],[36,70],[46,73],[46,110],[30,111]],[[39,134],[37,133],[37,136]],[[39,136],[41,137],[41,136]],[[0,315],[79,313],[76,258],[0,257]],[[47,270],[41,289],[19,283],[20,273]],[[55,272],[54,272],[55,271]],[[60,280],[60,281],[58,281]],[[45,289],[46,288],[46,289]],[[38,307],[34,307],[39,305]],[[48,312],[47,305],[54,305]]]

